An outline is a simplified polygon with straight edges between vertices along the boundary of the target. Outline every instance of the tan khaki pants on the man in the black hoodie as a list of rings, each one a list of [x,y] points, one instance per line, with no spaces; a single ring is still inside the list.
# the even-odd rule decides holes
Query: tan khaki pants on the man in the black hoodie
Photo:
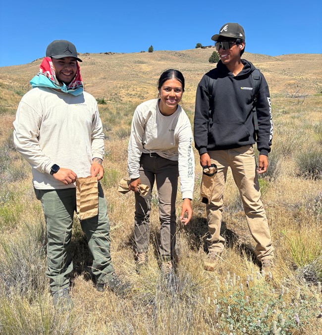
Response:
[[[208,152],[211,163],[217,165],[215,185],[211,201],[206,205],[209,238],[208,249],[221,252],[225,239],[220,236],[223,191],[228,167],[239,189],[249,230],[255,239],[256,255],[259,260],[274,257],[267,217],[263,203],[256,171],[254,150],[251,145],[236,149],[214,150]]]

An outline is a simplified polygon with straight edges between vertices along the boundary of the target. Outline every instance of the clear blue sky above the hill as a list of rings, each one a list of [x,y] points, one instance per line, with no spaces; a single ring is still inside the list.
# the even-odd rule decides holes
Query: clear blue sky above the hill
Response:
[[[54,40],[78,52],[185,50],[213,44],[227,22],[245,29],[253,53],[322,53],[322,1],[2,0],[0,66],[45,56]]]

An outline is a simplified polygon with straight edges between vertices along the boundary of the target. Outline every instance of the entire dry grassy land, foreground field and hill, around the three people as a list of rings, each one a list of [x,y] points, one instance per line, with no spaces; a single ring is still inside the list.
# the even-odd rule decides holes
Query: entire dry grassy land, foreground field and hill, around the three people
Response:
[[[108,202],[114,267],[134,289],[125,298],[96,291],[91,257],[74,220],[71,295],[74,309],[56,313],[48,293],[45,225],[29,165],[14,150],[12,122],[41,59],[0,68],[0,334],[320,334],[322,313],[322,55],[271,57],[245,52],[264,73],[272,96],[274,137],[266,176],[260,179],[276,255],[274,280],[259,273],[239,193],[228,173],[224,197],[223,259],[202,268],[207,221],[199,200],[201,168],[195,151],[194,216],[177,227],[178,278],[161,280],[160,223],[153,196],[149,266],[136,275],[133,194],[117,193],[126,177],[127,143],[136,105],[157,96],[161,72],[186,79],[183,107],[194,115],[195,91],[213,68],[213,48],[153,53],[80,54],[86,91],[99,105],[106,134],[102,185]],[[177,214],[181,194],[178,192]],[[320,283],[320,284],[319,284]],[[320,329],[320,331],[319,331]]]

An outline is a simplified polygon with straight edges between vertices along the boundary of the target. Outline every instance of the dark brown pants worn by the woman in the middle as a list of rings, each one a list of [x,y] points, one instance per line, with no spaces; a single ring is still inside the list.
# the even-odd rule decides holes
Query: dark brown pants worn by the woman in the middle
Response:
[[[176,216],[175,200],[178,188],[178,162],[162,157],[142,154],[140,160],[141,183],[150,187],[146,196],[135,193],[134,239],[137,252],[146,252],[150,237],[151,195],[157,183],[160,217],[160,254],[163,258],[173,257],[175,245]]]

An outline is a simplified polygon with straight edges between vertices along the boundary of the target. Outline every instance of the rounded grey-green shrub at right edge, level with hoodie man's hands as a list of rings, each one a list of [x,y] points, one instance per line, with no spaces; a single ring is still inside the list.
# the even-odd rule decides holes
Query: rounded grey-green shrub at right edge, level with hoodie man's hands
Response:
[[[322,178],[322,149],[312,147],[306,151],[300,151],[296,157],[299,175],[305,178]]]

